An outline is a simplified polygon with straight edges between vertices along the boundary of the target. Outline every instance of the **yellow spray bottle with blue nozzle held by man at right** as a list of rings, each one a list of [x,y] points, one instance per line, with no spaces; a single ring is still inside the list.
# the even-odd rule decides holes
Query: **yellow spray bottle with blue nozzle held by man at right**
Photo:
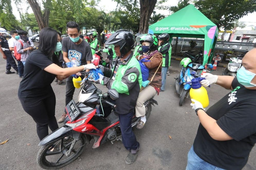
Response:
[[[206,89],[200,84],[200,81],[204,80],[205,78],[193,78],[191,80],[192,87],[189,91],[189,95],[191,99],[195,99],[196,101],[200,102],[203,107],[209,106],[209,98]]]

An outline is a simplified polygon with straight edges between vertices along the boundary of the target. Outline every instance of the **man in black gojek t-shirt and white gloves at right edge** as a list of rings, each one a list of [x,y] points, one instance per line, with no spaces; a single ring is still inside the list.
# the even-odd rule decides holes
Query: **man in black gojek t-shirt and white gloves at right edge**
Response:
[[[232,91],[206,112],[194,99],[191,106],[200,120],[188,153],[190,169],[242,169],[256,143],[256,49],[244,56],[237,78],[205,73],[200,83],[218,84]]]

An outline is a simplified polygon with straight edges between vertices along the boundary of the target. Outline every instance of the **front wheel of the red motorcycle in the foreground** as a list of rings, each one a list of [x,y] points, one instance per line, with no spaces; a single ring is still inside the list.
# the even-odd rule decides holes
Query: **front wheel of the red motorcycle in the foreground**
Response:
[[[37,164],[44,169],[56,169],[70,164],[84,151],[87,142],[85,135],[82,135],[67,157],[64,153],[69,150],[73,140],[66,136],[43,145],[37,154]]]

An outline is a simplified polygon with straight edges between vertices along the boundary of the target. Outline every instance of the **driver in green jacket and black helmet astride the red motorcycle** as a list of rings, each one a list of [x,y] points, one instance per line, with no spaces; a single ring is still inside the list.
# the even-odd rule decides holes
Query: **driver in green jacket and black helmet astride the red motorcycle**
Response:
[[[114,88],[119,93],[119,98],[115,101],[116,112],[119,115],[119,124],[122,133],[122,142],[127,150],[130,151],[126,157],[125,163],[132,164],[136,161],[140,145],[132,131],[131,121],[134,116],[136,101],[142,85],[142,75],[139,62],[131,49],[134,46],[134,36],[126,29],[120,29],[112,34],[105,45],[113,44],[117,59],[113,69],[99,66],[103,69],[103,75],[99,74],[96,83],[102,84],[107,88]],[[104,107],[104,114],[109,108]]]

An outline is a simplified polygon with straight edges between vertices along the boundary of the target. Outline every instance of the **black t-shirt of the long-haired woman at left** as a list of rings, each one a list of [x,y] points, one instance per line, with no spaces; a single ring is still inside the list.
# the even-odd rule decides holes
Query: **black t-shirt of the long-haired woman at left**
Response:
[[[29,54],[20,82],[19,98],[43,98],[53,92],[51,83],[56,75],[43,70],[51,64],[53,64],[51,60],[40,50],[35,50]]]

